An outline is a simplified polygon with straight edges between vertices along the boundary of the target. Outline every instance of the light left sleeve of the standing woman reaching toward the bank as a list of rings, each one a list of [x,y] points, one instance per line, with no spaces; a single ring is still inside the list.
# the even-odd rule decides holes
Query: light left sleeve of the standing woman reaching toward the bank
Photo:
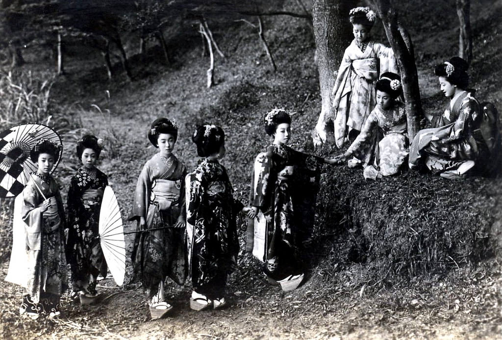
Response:
[[[270,183],[272,170],[272,155],[270,152],[258,154],[254,165],[253,174],[253,197],[251,205],[263,208],[266,205],[269,191],[273,189],[274,183]]]

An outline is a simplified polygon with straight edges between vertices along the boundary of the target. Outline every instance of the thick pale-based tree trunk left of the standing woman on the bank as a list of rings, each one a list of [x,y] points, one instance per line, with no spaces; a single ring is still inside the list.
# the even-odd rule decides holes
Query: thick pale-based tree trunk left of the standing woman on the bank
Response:
[[[333,129],[334,109],[331,106],[331,89],[343,51],[350,42],[352,26],[348,23],[347,18],[350,9],[355,6],[355,1],[314,0],[312,7],[322,98],[321,113],[312,136],[316,146],[326,142],[327,131]]]

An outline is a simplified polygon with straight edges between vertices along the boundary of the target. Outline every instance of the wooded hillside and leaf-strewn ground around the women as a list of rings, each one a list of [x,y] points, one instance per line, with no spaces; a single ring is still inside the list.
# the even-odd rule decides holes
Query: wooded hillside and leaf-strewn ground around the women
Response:
[[[61,133],[65,149],[54,175],[63,196],[79,167],[76,141],[92,133],[106,142],[98,167],[109,176],[122,216],[128,216],[137,176],[155,153],[146,132],[162,116],[180,123],[175,153],[188,169],[198,159],[190,141],[194,128],[202,123],[223,127],[228,137],[222,163],[243,202],[253,159],[269,142],[262,120],[271,108],[292,112],[295,149],[323,156],[339,152],[330,143],[314,150],[312,143],[321,95],[311,1],[114,4],[1,4],[2,15],[11,15],[11,21],[6,25],[2,17],[0,128],[39,122]],[[159,4],[176,10],[166,12]],[[394,4],[415,47],[426,112],[440,113],[447,104],[433,67],[458,54],[455,5],[454,0]],[[502,1],[471,2],[470,19],[471,86],[480,101],[491,101],[500,109]],[[339,20],[350,32],[347,18]],[[389,45],[380,21],[372,35]],[[340,49],[333,59],[340,60],[342,54]],[[326,168],[316,223],[309,229],[305,260],[310,270],[299,289],[282,292],[268,285],[257,261],[241,252],[238,270],[229,281],[229,308],[192,311],[190,285],[169,284],[173,313],[150,321],[128,260],[122,287],[111,278],[104,280],[98,287],[101,302],[94,306],[75,305],[63,297],[60,320],[22,319],[21,289],[3,283],[0,334],[502,338],[501,198],[497,178],[445,180],[405,171],[367,182],[360,169]],[[5,277],[12,241],[9,200],[2,201],[0,223],[0,276]],[[126,230],[135,228],[124,225]],[[243,250],[242,217],[239,234]],[[131,245],[132,237],[127,241]]]

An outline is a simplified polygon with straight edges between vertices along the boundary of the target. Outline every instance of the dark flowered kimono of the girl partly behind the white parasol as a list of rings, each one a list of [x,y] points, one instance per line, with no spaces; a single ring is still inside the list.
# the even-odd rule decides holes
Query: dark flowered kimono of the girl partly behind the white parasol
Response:
[[[98,169],[77,170],[68,191],[67,258],[74,291],[96,293],[96,278],[104,263],[98,239],[99,212],[108,178]]]

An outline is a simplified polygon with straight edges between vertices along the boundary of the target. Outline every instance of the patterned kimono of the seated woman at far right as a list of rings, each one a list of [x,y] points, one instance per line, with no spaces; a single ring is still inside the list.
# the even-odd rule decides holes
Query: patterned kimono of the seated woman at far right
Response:
[[[410,168],[423,158],[433,173],[458,169],[465,161],[476,161],[486,151],[479,130],[482,112],[472,92],[452,98],[441,116],[433,117],[432,128],[419,131],[410,149]]]

